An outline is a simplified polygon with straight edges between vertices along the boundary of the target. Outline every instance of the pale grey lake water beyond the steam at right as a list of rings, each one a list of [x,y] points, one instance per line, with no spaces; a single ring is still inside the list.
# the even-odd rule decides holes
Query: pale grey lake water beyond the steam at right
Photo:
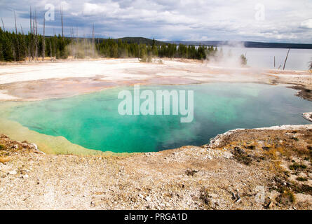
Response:
[[[218,47],[224,50],[224,55],[231,54],[238,58],[246,55],[247,65],[252,68],[274,69],[274,56],[276,57],[276,69],[283,69],[288,49],[283,48],[230,48]],[[312,49],[290,49],[285,69],[308,70],[308,62],[312,60]]]

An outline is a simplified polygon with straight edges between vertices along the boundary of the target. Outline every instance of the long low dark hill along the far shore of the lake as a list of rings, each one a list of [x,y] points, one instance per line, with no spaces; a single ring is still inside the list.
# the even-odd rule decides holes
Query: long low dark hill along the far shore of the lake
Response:
[[[185,45],[230,45],[242,46],[245,48],[298,48],[298,49],[312,49],[312,44],[309,43],[264,43],[253,41],[169,41],[169,43],[182,43]]]

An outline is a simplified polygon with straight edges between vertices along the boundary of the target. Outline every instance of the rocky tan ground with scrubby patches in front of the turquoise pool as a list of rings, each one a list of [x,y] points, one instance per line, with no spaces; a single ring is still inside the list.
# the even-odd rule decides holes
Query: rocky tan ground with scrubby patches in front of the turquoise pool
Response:
[[[0,209],[312,209],[311,139],[312,125],[283,125],[201,147],[79,156],[1,135]]]

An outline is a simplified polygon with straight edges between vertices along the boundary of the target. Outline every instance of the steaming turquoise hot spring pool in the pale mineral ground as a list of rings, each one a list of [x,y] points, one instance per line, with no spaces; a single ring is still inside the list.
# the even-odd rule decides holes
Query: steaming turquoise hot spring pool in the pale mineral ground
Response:
[[[121,116],[118,87],[65,99],[48,99],[17,106],[9,119],[30,130],[62,136],[74,144],[100,151],[148,152],[201,146],[234,128],[308,124],[301,116],[312,103],[283,86],[209,83],[140,86],[142,90],[194,90],[194,120],[181,116]]]

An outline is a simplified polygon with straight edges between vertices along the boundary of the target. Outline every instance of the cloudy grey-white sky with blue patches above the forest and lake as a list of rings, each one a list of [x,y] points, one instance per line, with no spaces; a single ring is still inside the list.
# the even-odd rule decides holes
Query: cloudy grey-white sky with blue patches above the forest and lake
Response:
[[[73,27],[90,36],[94,24],[99,37],[312,43],[311,0],[1,0],[5,28],[13,29],[15,11],[19,29],[28,31],[29,6],[40,32],[46,16],[48,35],[60,32],[62,6],[66,35]]]

